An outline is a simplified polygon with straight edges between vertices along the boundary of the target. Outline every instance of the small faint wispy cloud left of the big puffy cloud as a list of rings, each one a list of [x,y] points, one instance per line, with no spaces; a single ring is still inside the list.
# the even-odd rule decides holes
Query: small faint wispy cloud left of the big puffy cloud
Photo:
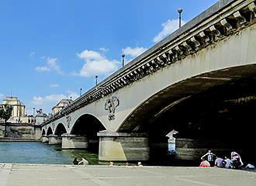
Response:
[[[41,59],[46,60],[47,66],[36,67],[36,71],[56,71],[57,74],[64,74],[61,71],[61,67],[57,64],[57,58],[41,57]]]

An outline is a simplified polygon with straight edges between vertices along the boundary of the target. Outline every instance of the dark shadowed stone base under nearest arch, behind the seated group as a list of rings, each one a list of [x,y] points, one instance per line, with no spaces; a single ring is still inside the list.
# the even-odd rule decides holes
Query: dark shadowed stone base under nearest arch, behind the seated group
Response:
[[[219,157],[230,156],[232,144],[206,139],[176,138],[176,159],[178,160],[200,160],[200,157],[212,150]]]

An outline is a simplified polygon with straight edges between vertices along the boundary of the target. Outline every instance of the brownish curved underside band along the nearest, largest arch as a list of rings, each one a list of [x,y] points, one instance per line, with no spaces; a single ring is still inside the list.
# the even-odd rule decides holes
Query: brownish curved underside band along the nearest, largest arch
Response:
[[[243,81],[254,81],[255,76],[256,64],[250,64],[210,71],[171,84],[168,88],[158,91],[146,101],[141,102],[130,112],[130,115],[126,116],[116,131],[119,133],[146,132],[144,126],[148,126],[148,123],[154,122],[176,105],[196,95],[203,95],[204,92],[209,92],[213,88],[225,86],[225,84],[237,82],[243,84]]]

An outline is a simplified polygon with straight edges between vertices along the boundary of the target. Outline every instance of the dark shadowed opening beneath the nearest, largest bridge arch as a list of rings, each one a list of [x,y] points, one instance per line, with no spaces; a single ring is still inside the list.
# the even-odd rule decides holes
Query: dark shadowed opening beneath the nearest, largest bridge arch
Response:
[[[254,142],[255,84],[256,65],[192,77],[140,105],[118,132],[147,133],[154,144],[164,143],[160,139],[175,129],[180,159],[195,160],[213,149],[220,156],[237,150],[254,160],[248,144]]]

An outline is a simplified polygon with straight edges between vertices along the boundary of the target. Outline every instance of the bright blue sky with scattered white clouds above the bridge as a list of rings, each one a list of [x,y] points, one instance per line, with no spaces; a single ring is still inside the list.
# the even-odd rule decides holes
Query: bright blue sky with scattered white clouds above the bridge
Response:
[[[217,0],[2,0],[0,101],[19,97],[44,112],[126,63]],[[12,93],[11,93],[12,92]]]

